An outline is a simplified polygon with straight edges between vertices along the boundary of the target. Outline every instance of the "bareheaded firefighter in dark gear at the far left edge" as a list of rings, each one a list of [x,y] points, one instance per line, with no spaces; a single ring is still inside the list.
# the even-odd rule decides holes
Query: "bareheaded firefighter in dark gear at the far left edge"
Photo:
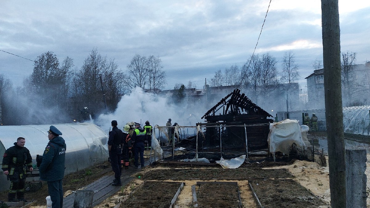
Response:
[[[25,201],[26,169],[28,167],[30,171],[33,171],[32,157],[30,151],[24,147],[25,142],[26,140],[23,137],[18,137],[17,142],[14,142],[14,146],[7,149],[3,156],[1,169],[3,169],[4,175],[7,175],[10,180],[9,202]]]

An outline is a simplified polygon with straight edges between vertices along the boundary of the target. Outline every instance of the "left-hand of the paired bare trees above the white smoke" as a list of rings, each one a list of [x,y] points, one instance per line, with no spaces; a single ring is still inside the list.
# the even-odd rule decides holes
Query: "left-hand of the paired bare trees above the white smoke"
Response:
[[[144,89],[146,87],[150,73],[147,57],[135,54],[135,56],[132,57],[130,64],[127,65],[127,71],[131,77],[131,80],[128,83],[131,88],[138,86]]]

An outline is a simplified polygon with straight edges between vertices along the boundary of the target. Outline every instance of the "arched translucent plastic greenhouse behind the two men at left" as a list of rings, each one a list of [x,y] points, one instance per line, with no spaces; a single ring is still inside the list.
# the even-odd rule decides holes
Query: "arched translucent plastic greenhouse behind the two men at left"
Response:
[[[108,135],[100,127],[90,123],[52,124],[62,132],[67,150],[65,175],[83,170],[108,160]],[[0,154],[14,145],[18,137],[26,139],[25,147],[30,150],[33,164],[36,155],[43,155],[48,143],[50,125],[0,126]],[[10,182],[0,170],[0,190],[9,189]]]

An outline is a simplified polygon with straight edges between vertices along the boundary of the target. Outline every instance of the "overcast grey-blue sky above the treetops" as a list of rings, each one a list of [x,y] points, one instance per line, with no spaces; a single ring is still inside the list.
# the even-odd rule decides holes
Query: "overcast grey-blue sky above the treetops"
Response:
[[[135,54],[159,56],[167,86],[196,82],[233,64],[241,67],[256,46],[270,0],[16,1],[0,2],[0,50],[35,60],[53,51],[75,67],[93,48],[126,70]],[[339,0],[342,51],[370,60],[370,1]],[[272,0],[256,53],[279,61],[293,50],[301,79],[322,60],[320,0]],[[14,85],[33,71],[33,62],[0,51],[0,74]]]

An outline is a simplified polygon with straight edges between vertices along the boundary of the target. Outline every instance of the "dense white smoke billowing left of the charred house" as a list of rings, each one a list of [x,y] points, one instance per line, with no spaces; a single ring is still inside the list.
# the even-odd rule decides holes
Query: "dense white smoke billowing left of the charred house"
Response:
[[[161,97],[152,93],[144,93],[139,87],[136,87],[131,93],[124,95],[117,105],[117,109],[111,114],[101,114],[94,123],[103,130],[111,128],[111,121],[117,120],[118,128],[122,129],[129,121],[145,125],[149,121],[153,127],[155,125],[165,126],[168,119],[171,118],[172,125],[193,125],[202,121],[201,117],[206,113],[203,105],[194,105],[194,102],[187,103],[187,98],[181,105],[175,105],[171,98]]]

